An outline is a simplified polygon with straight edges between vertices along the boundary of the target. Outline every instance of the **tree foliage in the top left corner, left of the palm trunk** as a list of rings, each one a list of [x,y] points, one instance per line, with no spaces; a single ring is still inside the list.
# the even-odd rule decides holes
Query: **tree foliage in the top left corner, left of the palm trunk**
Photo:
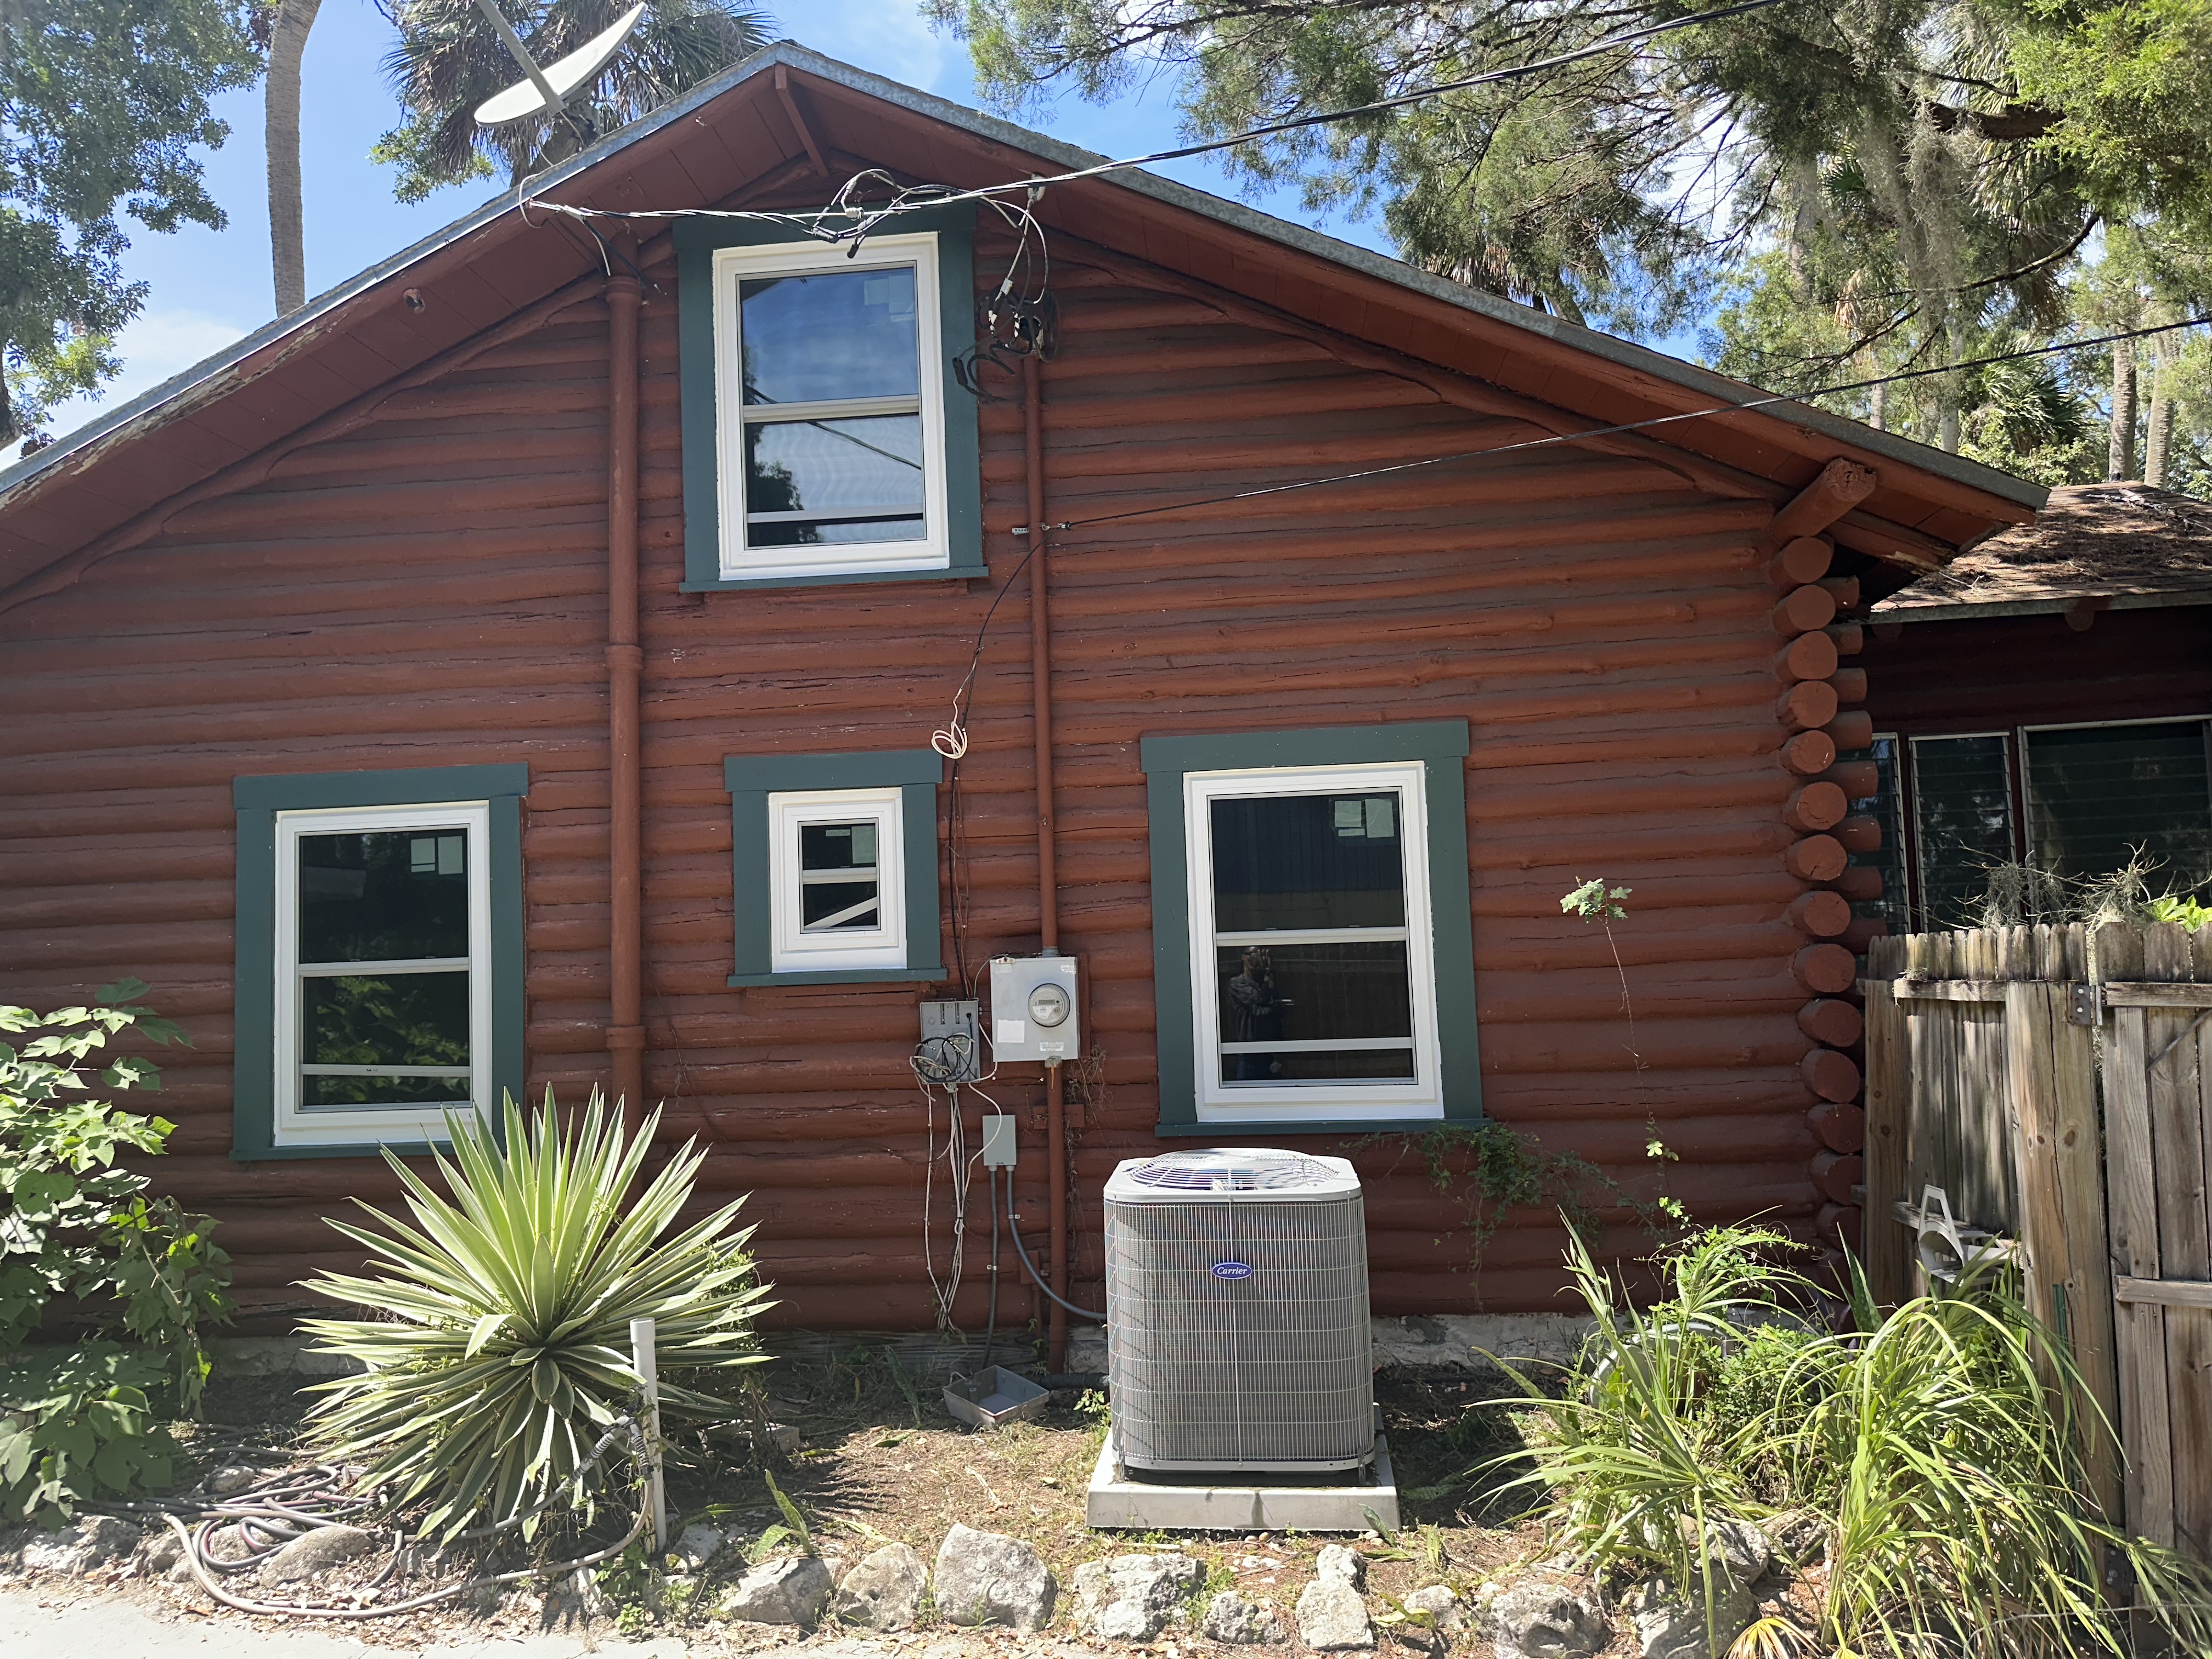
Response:
[[[243,0],[0,0],[0,442],[122,367],[146,303],[122,215],[223,226],[192,148],[259,75],[246,22]]]

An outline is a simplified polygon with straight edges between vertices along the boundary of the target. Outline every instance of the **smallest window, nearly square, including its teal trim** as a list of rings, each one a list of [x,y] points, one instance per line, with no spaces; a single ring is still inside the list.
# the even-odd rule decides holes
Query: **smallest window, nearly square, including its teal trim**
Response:
[[[945,975],[936,750],[732,754],[730,984]]]

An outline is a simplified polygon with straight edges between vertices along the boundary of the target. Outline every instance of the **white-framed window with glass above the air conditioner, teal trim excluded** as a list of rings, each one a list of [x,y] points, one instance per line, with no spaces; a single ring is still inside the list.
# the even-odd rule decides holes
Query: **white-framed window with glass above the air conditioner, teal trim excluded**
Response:
[[[1422,765],[1183,776],[1201,1121],[1442,1117]]]

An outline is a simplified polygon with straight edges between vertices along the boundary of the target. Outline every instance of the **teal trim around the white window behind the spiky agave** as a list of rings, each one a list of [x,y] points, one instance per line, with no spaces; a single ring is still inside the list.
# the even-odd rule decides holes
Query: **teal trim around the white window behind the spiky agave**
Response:
[[[522,987],[522,796],[529,765],[436,765],[392,772],[303,772],[232,779],[239,816],[237,969],[232,980],[230,1157],[241,1161],[429,1152],[420,1141],[276,1146],[276,814],[321,807],[489,803],[491,1086],[522,1099],[526,1000]]]

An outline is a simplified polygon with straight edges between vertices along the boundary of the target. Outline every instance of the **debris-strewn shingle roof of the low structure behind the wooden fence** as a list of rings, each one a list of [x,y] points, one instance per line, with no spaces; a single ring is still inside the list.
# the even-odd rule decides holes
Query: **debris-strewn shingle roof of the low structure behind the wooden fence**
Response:
[[[2150,484],[2062,484],[2015,524],[1874,606],[1876,622],[2212,604],[2212,507]]]

